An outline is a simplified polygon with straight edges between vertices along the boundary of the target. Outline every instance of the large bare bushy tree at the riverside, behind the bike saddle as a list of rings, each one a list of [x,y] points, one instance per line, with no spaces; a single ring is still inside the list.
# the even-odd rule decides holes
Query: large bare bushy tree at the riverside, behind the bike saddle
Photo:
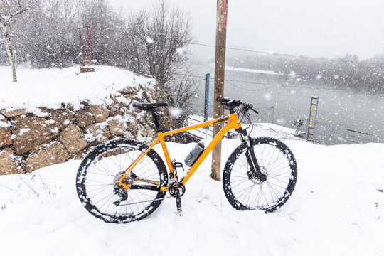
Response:
[[[125,33],[128,68],[156,78],[166,101],[181,107],[185,117],[191,109],[196,85],[188,76],[188,50],[192,41],[190,16],[166,1],[160,1],[150,11],[142,10],[128,18]],[[176,73],[185,74],[176,79]],[[182,118],[181,118],[182,119]]]

